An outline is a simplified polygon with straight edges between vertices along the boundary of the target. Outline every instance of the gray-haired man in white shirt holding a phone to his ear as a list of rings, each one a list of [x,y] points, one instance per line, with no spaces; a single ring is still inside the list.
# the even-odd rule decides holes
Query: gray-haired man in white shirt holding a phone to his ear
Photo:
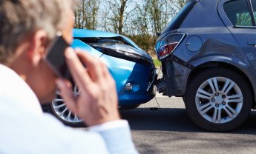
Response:
[[[81,90],[74,98],[70,81],[45,61],[57,33],[72,42],[71,7],[71,0],[0,1],[0,153],[137,153],[128,122],[119,118],[115,82],[105,64],[88,53],[65,50]],[[42,113],[39,102],[51,101],[56,85],[88,131]]]

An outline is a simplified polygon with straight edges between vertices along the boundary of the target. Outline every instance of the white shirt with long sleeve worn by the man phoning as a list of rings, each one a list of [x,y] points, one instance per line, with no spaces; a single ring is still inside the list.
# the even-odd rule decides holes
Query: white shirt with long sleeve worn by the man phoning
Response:
[[[39,100],[13,70],[0,64],[0,153],[137,153],[128,122],[89,131],[65,127],[42,113]]]

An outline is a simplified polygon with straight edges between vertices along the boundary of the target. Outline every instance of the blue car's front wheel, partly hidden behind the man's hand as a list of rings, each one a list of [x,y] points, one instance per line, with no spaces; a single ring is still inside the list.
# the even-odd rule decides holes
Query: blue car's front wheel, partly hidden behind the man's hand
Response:
[[[79,90],[76,85],[73,87],[73,95],[78,96]],[[61,97],[58,90],[56,90],[56,98],[53,99],[51,104],[47,105],[47,110],[49,113],[59,118],[62,123],[69,125],[71,127],[84,127],[82,119],[80,119],[76,114],[71,113],[68,107],[65,105],[63,98]]]

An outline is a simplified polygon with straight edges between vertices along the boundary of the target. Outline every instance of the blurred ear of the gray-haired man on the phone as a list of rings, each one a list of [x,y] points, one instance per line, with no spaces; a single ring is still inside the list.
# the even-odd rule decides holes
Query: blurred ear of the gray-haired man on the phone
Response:
[[[31,37],[31,44],[27,51],[27,56],[33,66],[39,64],[39,61],[45,56],[47,46],[47,33],[45,30],[37,30]]]

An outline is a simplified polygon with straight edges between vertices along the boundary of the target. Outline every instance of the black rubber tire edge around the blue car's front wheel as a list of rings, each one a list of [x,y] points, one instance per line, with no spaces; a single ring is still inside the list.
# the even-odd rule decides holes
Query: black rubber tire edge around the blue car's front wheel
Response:
[[[55,116],[56,118],[58,118],[60,121],[62,121],[63,124],[70,126],[70,127],[86,127],[85,124],[83,124],[83,122],[68,122],[63,120],[62,118],[60,118],[57,114],[56,111],[53,110],[53,104],[47,104],[46,108],[48,110],[48,113],[52,114],[53,116]]]

